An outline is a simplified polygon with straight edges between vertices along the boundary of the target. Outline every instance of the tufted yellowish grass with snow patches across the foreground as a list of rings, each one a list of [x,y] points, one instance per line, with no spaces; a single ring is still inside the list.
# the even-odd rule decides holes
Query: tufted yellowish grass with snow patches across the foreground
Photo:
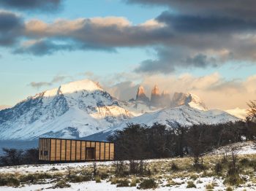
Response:
[[[128,169],[128,164],[126,164]],[[203,157],[203,168],[195,170],[192,158],[172,158],[146,161],[143,174],[116,175],[115,163],[110,165],[85,165],[78,167],[50,168],[35,173],[1,173],[0,187],[23,187],[28,184],[51,184],[50,188],[70,187],[70,183],[109,182],[116,187],[136,187],[137,189],[157,189],[161,187],[197,188],[200,190],[236,189],[236,187],[256,188],[256,155],[238,157],[238,173],[228,175],[229,161],[222,156]],[[72,166],[72,165],[71,165]],[[34,166],[37,168],[37,166]]]

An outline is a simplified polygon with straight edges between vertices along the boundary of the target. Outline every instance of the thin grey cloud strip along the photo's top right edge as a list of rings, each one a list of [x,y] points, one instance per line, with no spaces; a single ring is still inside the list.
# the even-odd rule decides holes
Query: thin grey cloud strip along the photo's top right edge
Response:
[[[255,0],[124,0],[129,3],[164,5],[185,15],[221,15],[255,20]]]

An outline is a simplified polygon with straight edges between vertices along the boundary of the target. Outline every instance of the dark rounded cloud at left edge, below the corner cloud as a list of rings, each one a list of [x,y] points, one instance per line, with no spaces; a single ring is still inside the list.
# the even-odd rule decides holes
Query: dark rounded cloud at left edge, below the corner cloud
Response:
[[[0,11],[0,45],[10,46],[23,33],[23,20],[12,12]]]

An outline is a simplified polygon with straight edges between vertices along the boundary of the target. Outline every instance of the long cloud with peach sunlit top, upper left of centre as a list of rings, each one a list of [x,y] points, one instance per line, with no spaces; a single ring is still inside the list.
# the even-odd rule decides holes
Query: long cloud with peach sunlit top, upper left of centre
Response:
[[[44,23],[30,20],[26,23],[26,36],[72,40],[85,47],[136,47],[161,42],[162,26],[132,26],[124,17],[93,17],[76,20],[56,20]],[[151,39],[151,40],[150,40]]]

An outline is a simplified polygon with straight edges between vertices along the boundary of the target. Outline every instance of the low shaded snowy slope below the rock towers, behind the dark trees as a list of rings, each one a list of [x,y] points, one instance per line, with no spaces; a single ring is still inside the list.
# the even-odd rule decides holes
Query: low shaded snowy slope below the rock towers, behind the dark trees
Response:
[[[175,108],[162,109],[157,112],[146,113],[138,117],[133,117],[126,122],[122,122],[120,125],[104,130],[103,132],[96,133],[89,136],[90,139],[97,137],[107,137],[115,130],[121,130],[127,127],[127,123],[153,125],[155,122],[167,125],[167,127],[176,127],[179,125],[193,125],[193,124],[217,124],[222,122],[235,122],[239,120],[226,112],[221,110],[213,109],[208,111],[202,111],[199,109],[192,108],[190,106],[178,106]],[[101,136],[104,135],[104,136]]]

